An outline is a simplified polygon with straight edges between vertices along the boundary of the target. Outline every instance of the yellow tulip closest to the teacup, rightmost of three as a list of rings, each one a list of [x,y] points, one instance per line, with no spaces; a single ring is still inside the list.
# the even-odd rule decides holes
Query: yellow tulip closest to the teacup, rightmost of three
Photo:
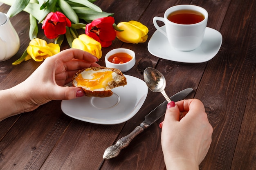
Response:
[[[117,27],[120,30],[124,30],[116,31],[117,38],[122,42],[138,44],[139,42],[145,42],[148,38],[148,27],[140,22],[120,22]]]

